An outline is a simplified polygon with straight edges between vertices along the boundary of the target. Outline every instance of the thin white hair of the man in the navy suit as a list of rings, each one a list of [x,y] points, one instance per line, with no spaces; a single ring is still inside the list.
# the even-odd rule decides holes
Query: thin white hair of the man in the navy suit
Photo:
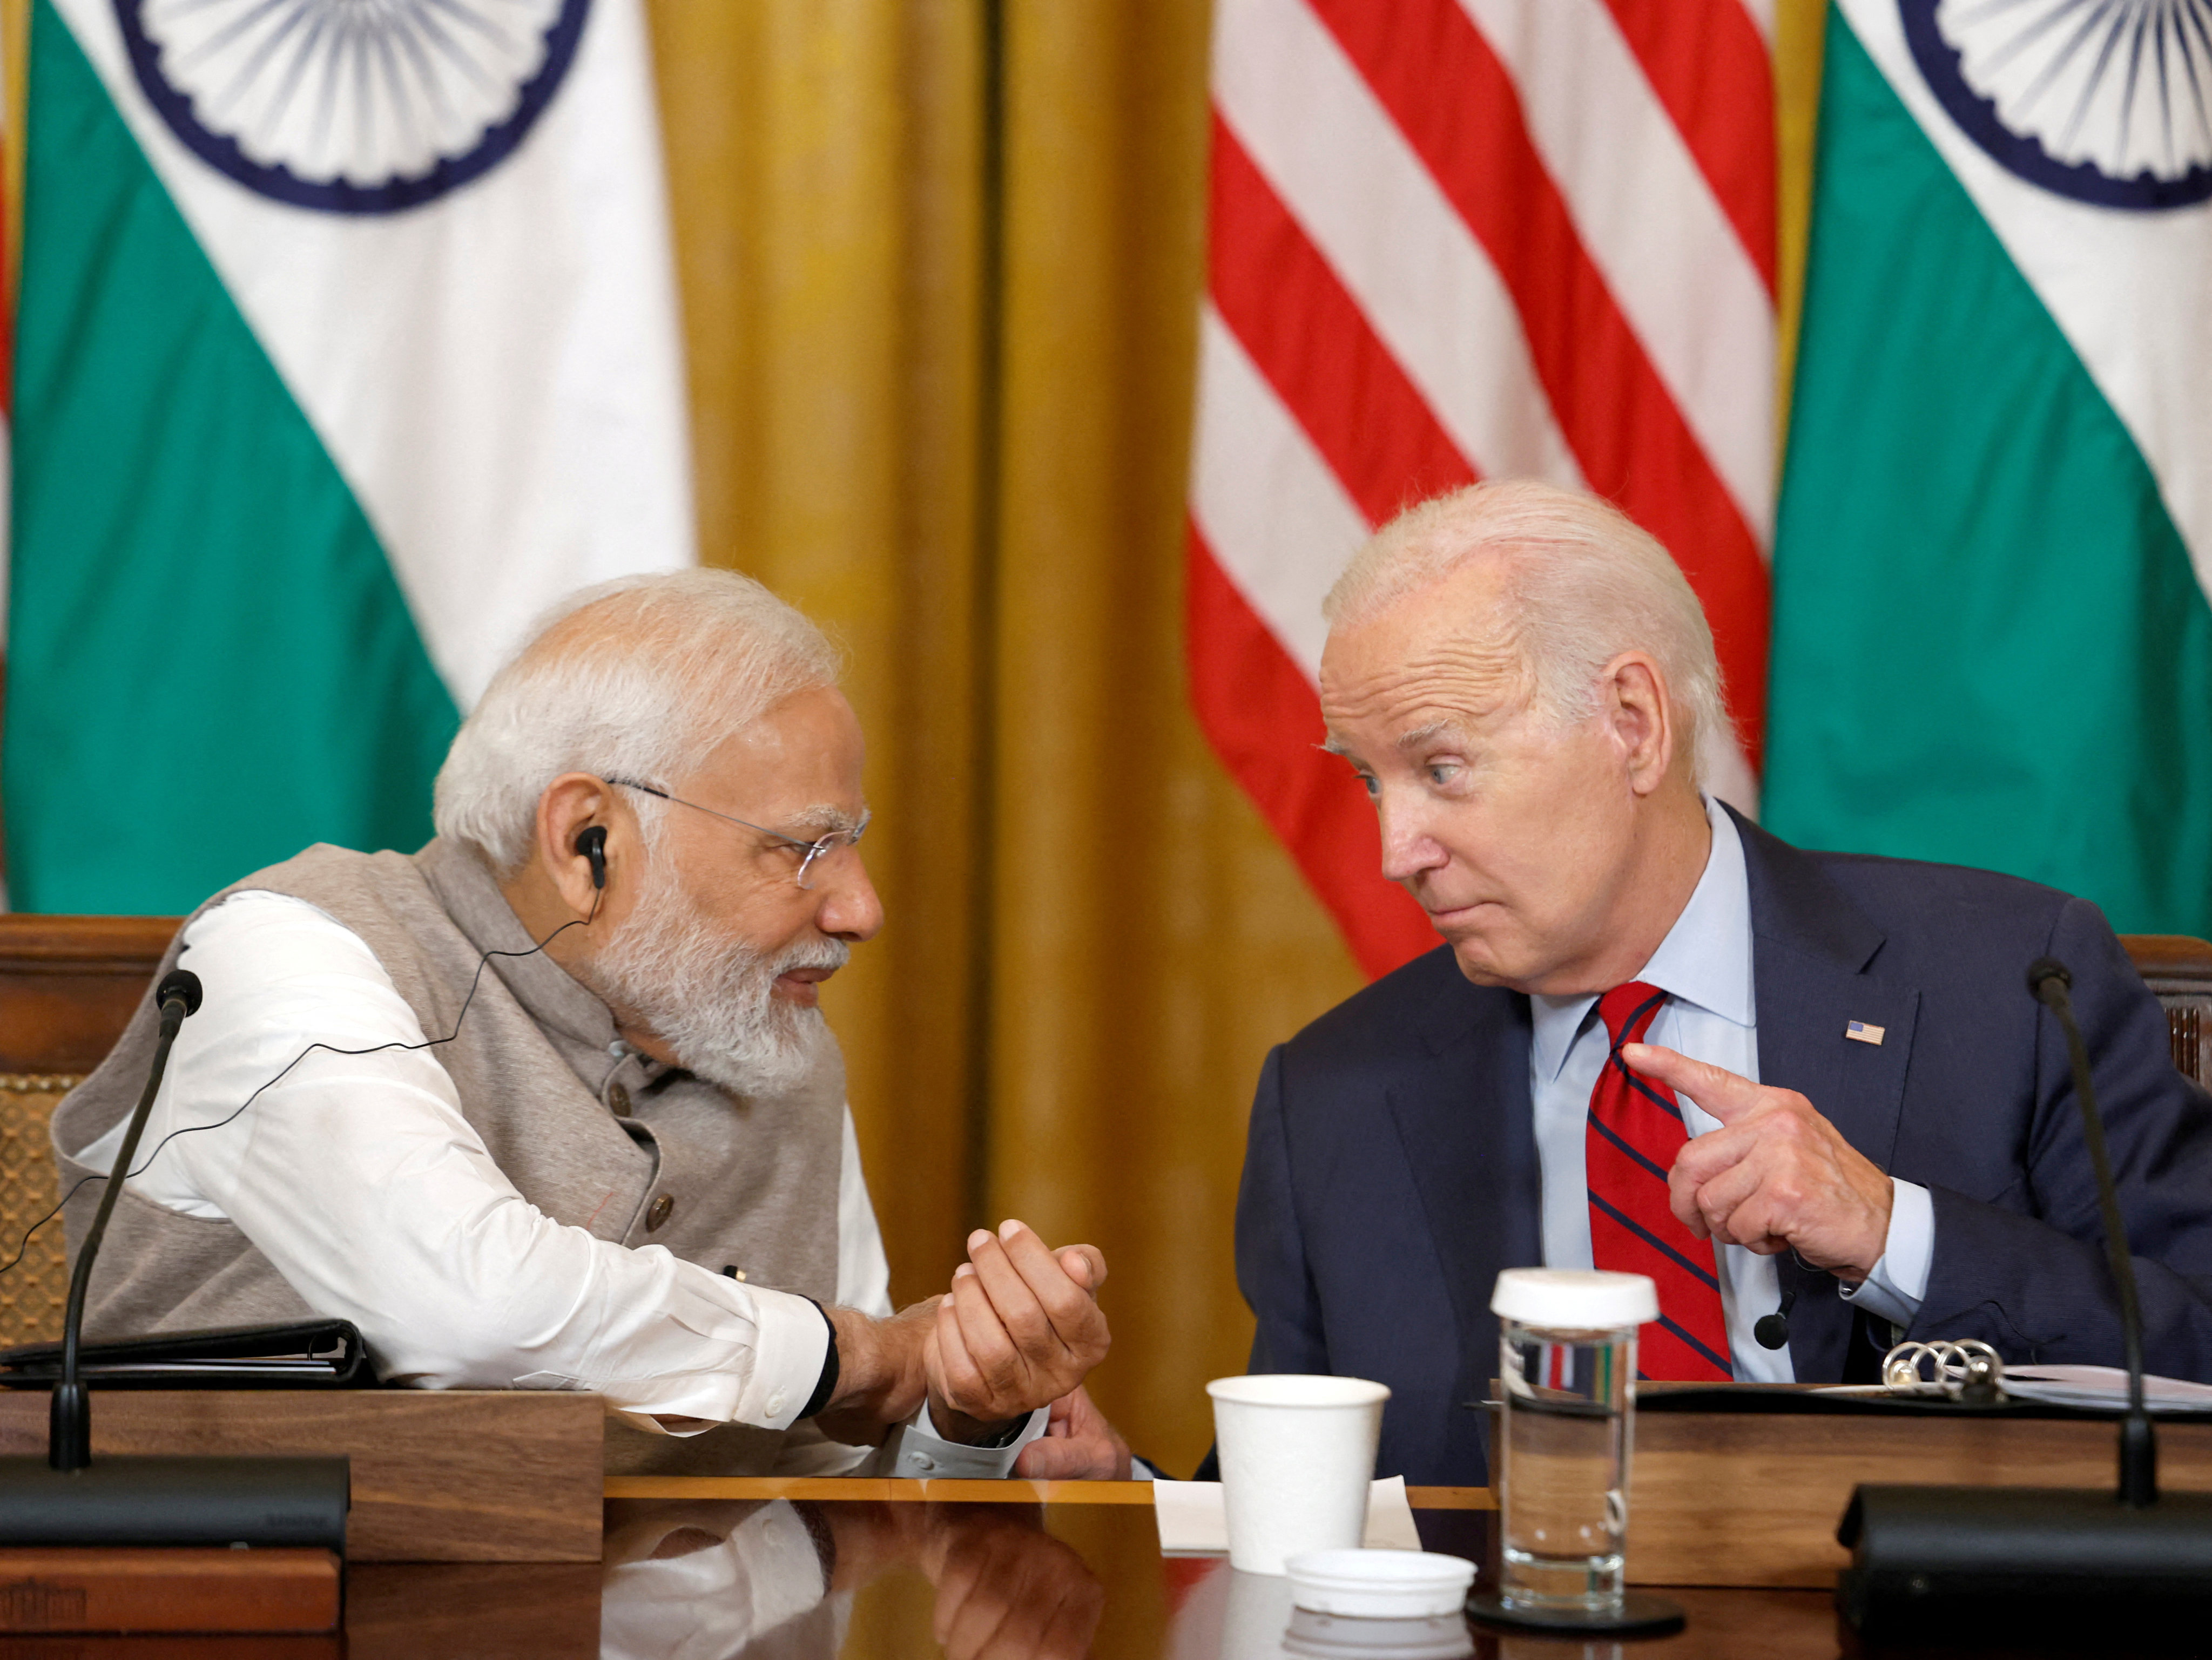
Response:
[[[1650,652],[1705,780],[1730,743],[1705,608],[1659,539],[1595,495],[1506,480],[1420,502],[1352,557],[1321,612],[1332,630],[1360,623],[1475,559],[1502,561],[1509,612],[1495,632],[1520,648],[1544,714],[1590,718],[1606,663]]]

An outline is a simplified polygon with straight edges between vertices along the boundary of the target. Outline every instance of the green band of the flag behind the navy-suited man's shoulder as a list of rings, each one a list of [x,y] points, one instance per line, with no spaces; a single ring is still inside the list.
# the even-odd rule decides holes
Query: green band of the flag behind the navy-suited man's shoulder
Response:
[[[1792,409],[1765,822],[2212,933],[2212,610],[2141,451],[1834,9]]]

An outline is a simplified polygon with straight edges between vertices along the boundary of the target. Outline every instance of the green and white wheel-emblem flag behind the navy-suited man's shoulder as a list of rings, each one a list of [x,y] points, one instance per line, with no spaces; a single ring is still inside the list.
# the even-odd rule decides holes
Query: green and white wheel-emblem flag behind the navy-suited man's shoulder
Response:
[[[2212,931],[2212,0],[1840,0],[1763,816]]]

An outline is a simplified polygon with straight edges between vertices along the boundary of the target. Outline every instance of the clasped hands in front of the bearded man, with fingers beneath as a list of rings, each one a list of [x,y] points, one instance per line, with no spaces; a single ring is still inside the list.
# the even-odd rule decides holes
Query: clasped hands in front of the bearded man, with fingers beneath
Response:
[[[1015,1474],[1126,1477],[1128,1448],[1082,1390],[1113,1342],[1102,1284],[1106,1258],[1091,1244],[1053,1251],[1024,1222],[975,1229],[947,1295],[891,1320],[830,1311],[841,1370],[823,1432],[876,1441],[927,1397],[938,1435],[980,1443],[1051,1406],[1046,1437],[1022,1448]]]

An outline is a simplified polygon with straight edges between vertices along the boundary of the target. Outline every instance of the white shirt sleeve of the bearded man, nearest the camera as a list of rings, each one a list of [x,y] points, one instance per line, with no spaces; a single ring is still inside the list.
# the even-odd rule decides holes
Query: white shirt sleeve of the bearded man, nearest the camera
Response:
[[[234,1222],[312,1309],[361,1328],[387,1379],[593,1390],[644,1426],[792,1423],[827,1351],[814,1306],[529,1205],[358,935],[241,893],[186,946],[206,999],[131,1191]]]

